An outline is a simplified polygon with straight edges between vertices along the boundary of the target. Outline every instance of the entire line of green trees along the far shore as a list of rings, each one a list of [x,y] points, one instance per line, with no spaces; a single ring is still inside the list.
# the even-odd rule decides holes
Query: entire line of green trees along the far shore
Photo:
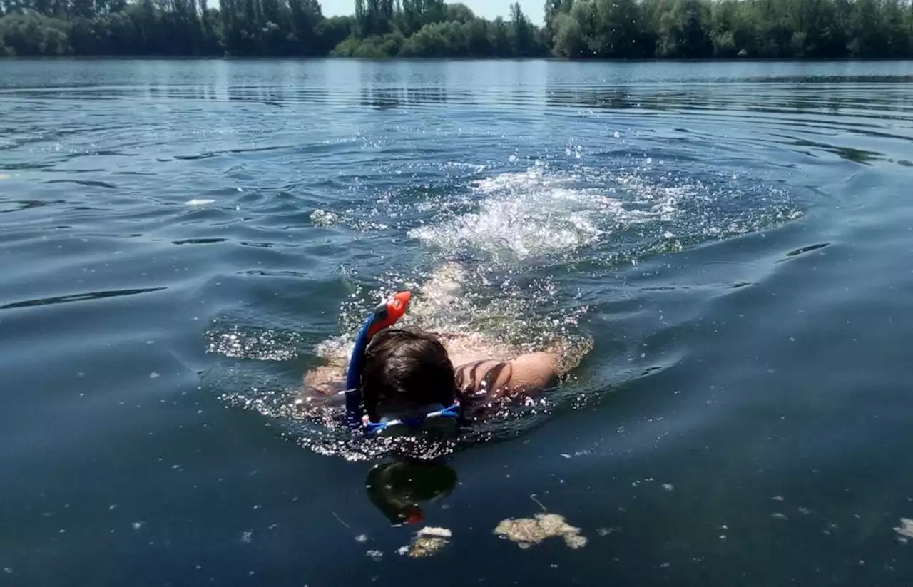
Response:
[[[910,0],[0,0],[0,56],[911,58]]]

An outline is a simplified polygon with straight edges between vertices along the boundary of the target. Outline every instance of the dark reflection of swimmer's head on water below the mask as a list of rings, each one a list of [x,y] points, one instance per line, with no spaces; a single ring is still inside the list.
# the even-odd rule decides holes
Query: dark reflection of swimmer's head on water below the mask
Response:
[[[425,521],[422,504],[446,498],[454,490],[456,471],[440,461],[388,461],[373,466],[365,487],[391,524],[417,524]]]

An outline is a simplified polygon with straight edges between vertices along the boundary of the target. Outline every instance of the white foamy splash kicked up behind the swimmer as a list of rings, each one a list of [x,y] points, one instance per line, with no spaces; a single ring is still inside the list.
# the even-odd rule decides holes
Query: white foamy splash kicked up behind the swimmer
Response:
[[[559,257],[626,261],[677,252],[794,220],[801,212],[770,184],[719,173],[683,174],[661,162],[563,171],[537,163],[472,185],[476,209],[439,215],[408,236],[446,255],[498,265]],[[748,204],[748,205],[746,205]]]

